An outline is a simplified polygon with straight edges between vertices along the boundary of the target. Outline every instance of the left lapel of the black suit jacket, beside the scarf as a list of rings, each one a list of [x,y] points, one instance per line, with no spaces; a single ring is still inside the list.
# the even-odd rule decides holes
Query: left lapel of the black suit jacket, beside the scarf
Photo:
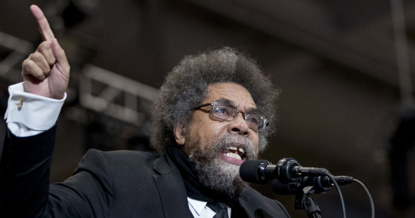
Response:
[[[165,217],[193,217],[189,210],[183,179],[170,158],[167,155],[159,157],[155,160],[154,170],[160,173],[153,175],[153,178]]]

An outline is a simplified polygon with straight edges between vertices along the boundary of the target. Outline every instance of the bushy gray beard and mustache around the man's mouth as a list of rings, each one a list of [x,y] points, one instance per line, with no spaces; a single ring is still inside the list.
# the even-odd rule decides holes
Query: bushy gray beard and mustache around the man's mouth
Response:
[[[199,182],[206,188],[224,193],[229,198],[238,196],[246,191],[248,183],[239,176],[238,165],[230,164],[219,158],[220,153],[232,142],[245,144],[246,160],[257,159],[252,141],[246,137],[228,134],[214,140],[213,146],[207,146],[206,139],[192,141],[189,161],[195,164]]]

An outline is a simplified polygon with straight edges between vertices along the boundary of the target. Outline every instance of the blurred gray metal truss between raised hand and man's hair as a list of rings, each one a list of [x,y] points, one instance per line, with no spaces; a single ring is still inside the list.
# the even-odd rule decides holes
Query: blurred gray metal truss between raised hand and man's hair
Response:
[[[157,94],[156,88],[92,65],[79,78],[82,106],[137,126],[149,122],[149,104]]]

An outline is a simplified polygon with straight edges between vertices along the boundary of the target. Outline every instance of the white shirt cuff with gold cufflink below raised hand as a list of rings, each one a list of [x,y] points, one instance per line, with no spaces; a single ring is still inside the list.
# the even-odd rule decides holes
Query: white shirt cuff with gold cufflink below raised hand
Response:
[[[63,99],[56,100],[24,92],[23,82],[9,86],[9,100],[5,119],[16,136],[32,136],[53,127],[59,116]]]

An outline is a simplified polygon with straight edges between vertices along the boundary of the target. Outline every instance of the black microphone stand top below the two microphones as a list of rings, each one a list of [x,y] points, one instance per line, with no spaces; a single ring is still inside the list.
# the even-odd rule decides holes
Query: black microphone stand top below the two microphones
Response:
[[[318,208],[315,198],[307,197],[307,195],[314,193],[314,186],[305,186],[298,190],[296,200],[294,203],[295,209],[305,209],[308,218],[321,218],[321,211]]]

